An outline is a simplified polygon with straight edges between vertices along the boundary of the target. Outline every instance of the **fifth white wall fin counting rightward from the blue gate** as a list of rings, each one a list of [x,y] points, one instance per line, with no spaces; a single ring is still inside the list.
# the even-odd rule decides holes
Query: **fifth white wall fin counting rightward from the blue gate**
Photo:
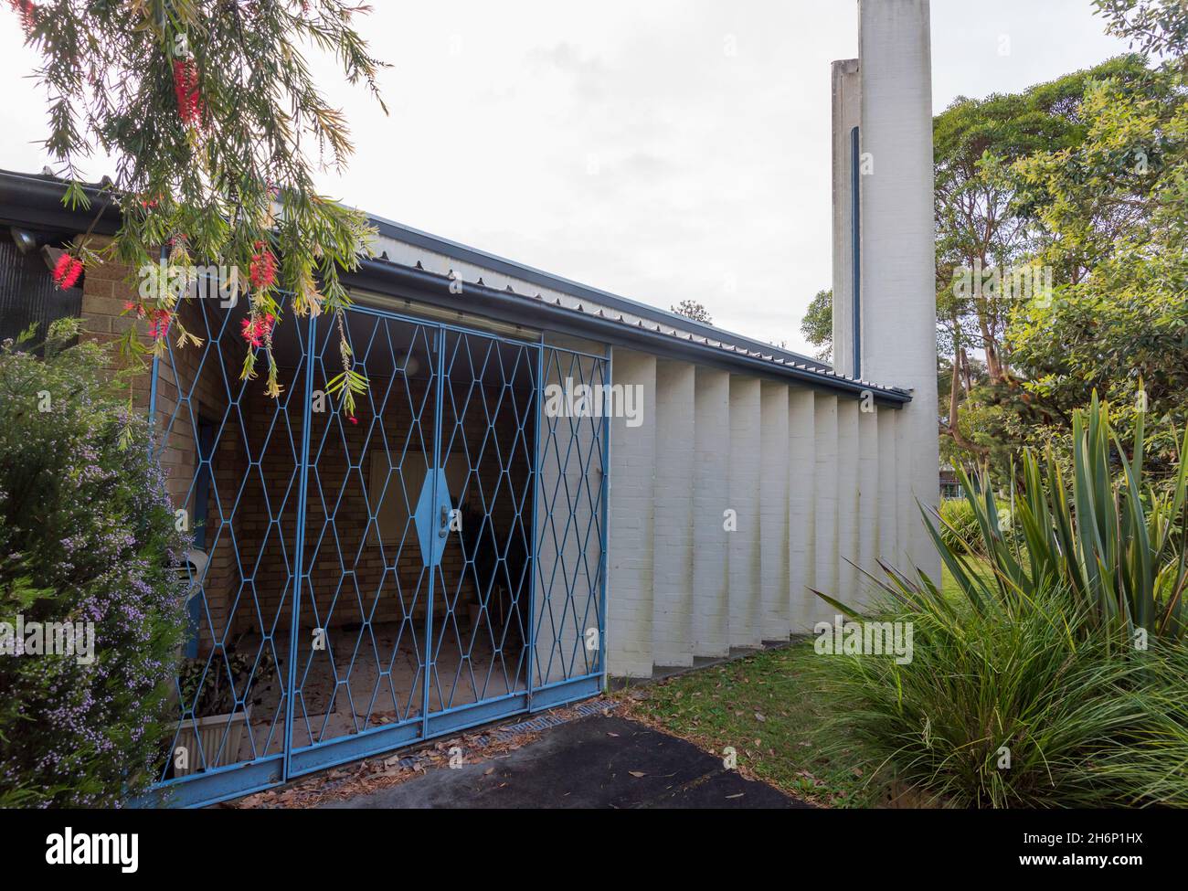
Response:
[[[786,640],[791,630],[788,601],[788,385],[763,381],[759,403],[763,639]]]

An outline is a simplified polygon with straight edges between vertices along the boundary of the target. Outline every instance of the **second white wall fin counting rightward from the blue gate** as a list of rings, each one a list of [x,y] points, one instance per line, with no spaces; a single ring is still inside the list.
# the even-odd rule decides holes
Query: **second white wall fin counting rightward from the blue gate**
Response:
[[[656,362],[652,662],[693,665],[694,366]]]

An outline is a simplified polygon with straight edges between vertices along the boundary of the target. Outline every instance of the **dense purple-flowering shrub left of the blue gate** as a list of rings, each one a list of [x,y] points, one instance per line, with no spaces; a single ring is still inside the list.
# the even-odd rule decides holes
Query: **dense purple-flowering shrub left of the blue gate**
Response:
[[[170,732],[188,542],[144,412],[76,330],[44,359],[0,347],[0,807],[119,805]],[[93,623],[93,658],[36,652],[18,621]]]

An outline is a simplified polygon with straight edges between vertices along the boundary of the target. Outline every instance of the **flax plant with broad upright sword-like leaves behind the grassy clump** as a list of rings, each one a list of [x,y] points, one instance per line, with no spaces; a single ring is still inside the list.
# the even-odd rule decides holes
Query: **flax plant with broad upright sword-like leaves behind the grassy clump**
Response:
[[[1089,407],[1073,416],[1070,478],[1050,446],[1042,459],[1031,450],[1023,454],[1012,536],[1001,526],[1005,505],[988,476],[971,479],[959,470],[980,539],[967,544],[986,555],[992,571],[975,571],[969,554],[950,546],[955,530],[943,520],[939,527],[939,517],[925,513],[924,523],[973,607],[985,611],[1060,587],[1070,608],[1087,611],[1087,632],[1104,634],[1112,645],[1144,646],[1151,636],[1184,640],[1188,463],[1182,459],[1188,432],[1170,488],[1144,485],[1143,448],[1143,415],[1127,453],[1111,425],[1108,405],[1094,393]]]

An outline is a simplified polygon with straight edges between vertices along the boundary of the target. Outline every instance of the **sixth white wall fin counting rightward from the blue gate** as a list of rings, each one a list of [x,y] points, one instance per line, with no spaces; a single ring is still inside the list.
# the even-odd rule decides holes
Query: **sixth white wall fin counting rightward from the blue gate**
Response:
[[[811,390],[788,391],[788,551],[792,632],[810,631],[816,577],[816,435]]]

